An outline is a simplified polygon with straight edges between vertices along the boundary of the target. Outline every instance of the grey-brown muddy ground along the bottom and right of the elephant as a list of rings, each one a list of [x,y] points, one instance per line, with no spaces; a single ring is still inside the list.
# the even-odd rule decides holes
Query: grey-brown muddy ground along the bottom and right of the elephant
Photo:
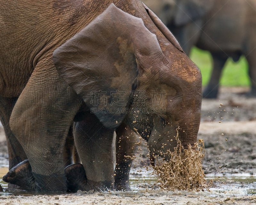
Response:
[[[213,178],[216,176],[210,192],[166,192],[145,183],[142,187],[135,185],[131,192],[79,191],[76,194],[32,196],[0,194],[0,204],[254,204],[256,195],[248,191],[241,193],[248,187],[246,180],[221,180],[230,173],[256,175],[256,98],[247,98],[243,94],[246,91],[243,88],[222,88],[218,99],[203,99],[198,139],[203,138],[205,143],[204,172]],[[3,134],[0,128],[0,166],[7,166],[8,154]],[[138,168],[144,163],[134,165]],[[136,175],[136,171],[132,172]],[[138,180],[143,184],[143,179]],[[225,192],[225,187],[236,189],[230,193]],[[249,188],[256,190],[256,183],[251,183]],[[216,189],[222,191],[216,194]]]

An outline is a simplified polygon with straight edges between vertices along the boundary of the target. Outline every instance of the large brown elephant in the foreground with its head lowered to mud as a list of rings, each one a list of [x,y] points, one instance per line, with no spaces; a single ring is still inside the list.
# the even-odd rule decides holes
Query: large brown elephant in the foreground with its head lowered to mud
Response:
[[[178,126],[184,146],[196,141],[200,71],[140,1],[3,2],[0,11],[1,112],[7,138],[28,158],[32,190],[66,191],[74,119],[84,190],[113,187],[112,139],[122,123],[156,155],[173,150]]]

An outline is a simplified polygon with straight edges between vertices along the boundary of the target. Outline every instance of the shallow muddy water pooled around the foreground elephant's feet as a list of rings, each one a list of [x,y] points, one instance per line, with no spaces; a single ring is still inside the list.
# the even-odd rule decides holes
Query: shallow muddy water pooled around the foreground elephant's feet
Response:
[[[4,189],[4,192],[0,192],[0,196],[3,195],[38,195],[39,193],[29,193],[25,191],[11,192],[7,190],[7,183],[2,180],[2,176],[8,171],[7,167],[0,168],[0,184]],[[205,179],[209,182],[213,180],[213,185],[209,189],[210,191],[199,191],[199,192],[187,192],[187,191],[165,191],[158,188],[156,184],[156,176],[151,175],[151,170],[135,169],[130,174],[130,186],[132,191],[129,192],[115,192],[116,195],[130,196],[142,193],[165,193],[167,195],[208,195],[208,196],[243,196],[256,194],[256,175],[250,173],[239,173],[239,174],[207,174]],[[42,194],[42,193],[40,193]],[[63,194],[63,193],[43,193],[48,195]]]

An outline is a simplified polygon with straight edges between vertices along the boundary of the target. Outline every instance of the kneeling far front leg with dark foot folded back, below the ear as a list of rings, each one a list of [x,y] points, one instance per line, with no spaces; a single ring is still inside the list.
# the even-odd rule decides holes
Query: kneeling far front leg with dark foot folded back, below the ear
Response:
[[[66,168],[68,190],[75,192],[78,189],[83,191],[113,189],[114,129],[105,128],[94,114],[88,113],[84,121],[74,123],[73,133],[84,169],[79,165]]]

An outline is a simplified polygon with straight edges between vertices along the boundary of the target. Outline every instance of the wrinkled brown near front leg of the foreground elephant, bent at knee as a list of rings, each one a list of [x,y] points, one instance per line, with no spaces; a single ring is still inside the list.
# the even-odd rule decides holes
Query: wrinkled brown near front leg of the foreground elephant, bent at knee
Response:
[[[51,58],[49,62],[43,59],[37,63],[13,108],[10,128],[28,157],[35,191],[66,192],[63,150],[70,125],[82,103],[60,79]],[[30,183],[34,186],[33,181]]]

